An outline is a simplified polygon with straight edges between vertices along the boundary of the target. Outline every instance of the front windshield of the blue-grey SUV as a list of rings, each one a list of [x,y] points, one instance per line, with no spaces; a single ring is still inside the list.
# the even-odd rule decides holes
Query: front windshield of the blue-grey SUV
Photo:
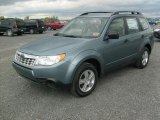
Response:
[[[101,35],[107,20],[106,17],[78,17],[68,23],[56,35],[95,38]]]

